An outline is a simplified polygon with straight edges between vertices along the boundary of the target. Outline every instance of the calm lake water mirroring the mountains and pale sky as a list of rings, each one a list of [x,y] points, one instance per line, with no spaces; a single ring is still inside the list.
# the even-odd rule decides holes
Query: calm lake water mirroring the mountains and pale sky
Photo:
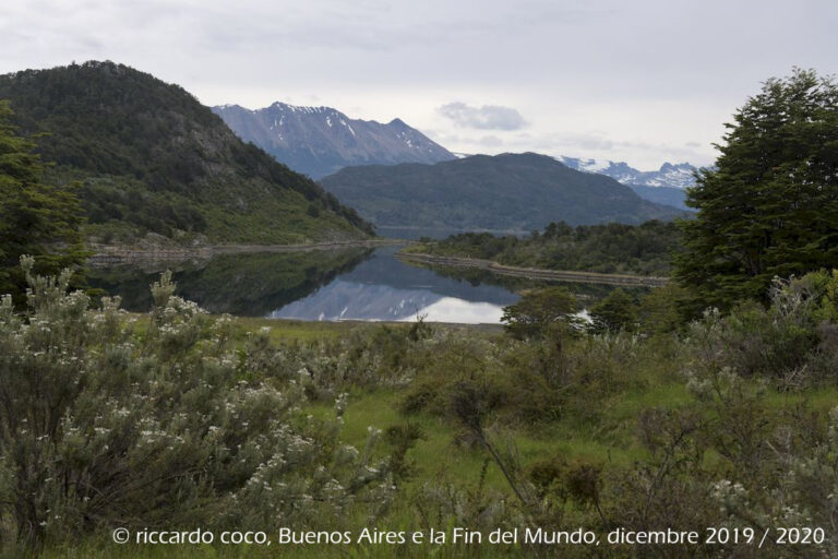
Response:
[[[467,269],[428,269],[395,258],[398,247],[228,254],[172,264],[94,266],[89,283],[146,311],[148,286],[171,269],[178,295],[211,312],[298,320],[498,323],[516,292],[537,284]],[[584,301],[604,285],[567,285]]]

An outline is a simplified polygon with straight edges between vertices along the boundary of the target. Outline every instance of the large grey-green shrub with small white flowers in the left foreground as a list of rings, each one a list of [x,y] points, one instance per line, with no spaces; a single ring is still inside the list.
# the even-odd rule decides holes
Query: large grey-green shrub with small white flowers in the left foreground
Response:
[[[0,540],[339,526],[361,496],[386,507],[386,467],[340,443],[339,417],[301,409],[297,370],[232,347],[229,320],[176,297],[170,274],[146,323],[22,263],[28,313],[0,304]]]

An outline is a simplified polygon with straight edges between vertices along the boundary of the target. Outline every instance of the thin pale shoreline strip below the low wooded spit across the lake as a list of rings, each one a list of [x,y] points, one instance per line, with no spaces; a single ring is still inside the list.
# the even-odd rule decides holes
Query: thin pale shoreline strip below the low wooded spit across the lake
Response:
[[[636,285],[645,287],[660,287],[667,285],[668,277],[644,276],[627,274],[602,274],[599,272],[579,272],[574,270],[544,270],[538,267],[519,267],[500,264],[491,260],[481,260],[466,257],[440,257],[421,252],[396,253],[402,260],[412,260],[424,264],[447,265],[456,267],[474,267],[486,270],[500,275],[525,277],[527,280],[551,280],[558,282],[583,282],[589,284],[609,285]]]

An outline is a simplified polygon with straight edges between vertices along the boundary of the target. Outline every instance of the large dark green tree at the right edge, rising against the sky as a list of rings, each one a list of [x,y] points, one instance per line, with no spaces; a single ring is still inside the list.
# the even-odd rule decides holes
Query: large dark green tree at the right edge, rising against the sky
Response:
[[[838,266],[838,85],[814,71],[765,82],[728,123],[716,168],[687,192],[675,276],[693,311],[764,299],[773,277]]]

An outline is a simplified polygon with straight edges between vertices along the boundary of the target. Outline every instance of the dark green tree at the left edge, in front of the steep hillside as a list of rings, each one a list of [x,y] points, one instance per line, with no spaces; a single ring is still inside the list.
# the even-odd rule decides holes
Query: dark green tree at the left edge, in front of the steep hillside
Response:
[[[82,247],[82,207],[74,187],[41,182],[44,164],[35,143],[17,134],[9,102],[0,100],[0,295],[24,300],[23,254],[35,257],[35,273],[57,276],[79,269],[87,253]],[[73,281],[79,286],[80,274]]]

